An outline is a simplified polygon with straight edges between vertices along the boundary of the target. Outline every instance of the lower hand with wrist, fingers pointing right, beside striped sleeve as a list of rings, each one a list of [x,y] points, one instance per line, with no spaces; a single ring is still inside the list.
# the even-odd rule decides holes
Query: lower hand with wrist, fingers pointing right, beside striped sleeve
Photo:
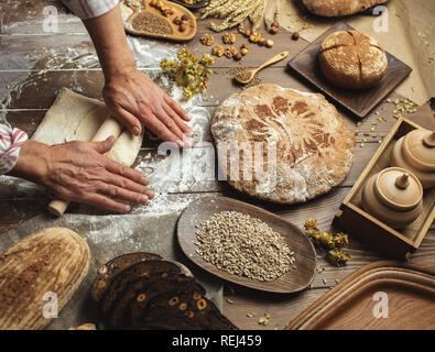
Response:
[[[102,155],[113,143],[115,138],[54,146],[28,141],[10,175],[42,184],[64,200],[128,212],[128,204],[146,204],[154,194],[143,174]]]

